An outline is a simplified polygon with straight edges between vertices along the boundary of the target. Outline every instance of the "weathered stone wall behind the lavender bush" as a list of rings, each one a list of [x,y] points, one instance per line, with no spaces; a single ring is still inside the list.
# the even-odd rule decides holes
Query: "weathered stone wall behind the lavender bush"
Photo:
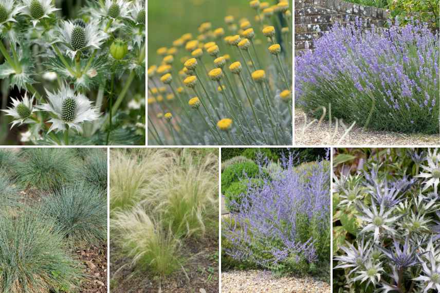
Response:
[[[340,0],[295,0],[295,49],[304,49],[308,41],[318,39],[335,23],[354,21],[361,17],[365,26],[381,27],[387,22],[388,12],[382,8],[363,6]]]

